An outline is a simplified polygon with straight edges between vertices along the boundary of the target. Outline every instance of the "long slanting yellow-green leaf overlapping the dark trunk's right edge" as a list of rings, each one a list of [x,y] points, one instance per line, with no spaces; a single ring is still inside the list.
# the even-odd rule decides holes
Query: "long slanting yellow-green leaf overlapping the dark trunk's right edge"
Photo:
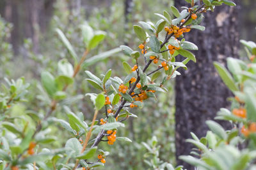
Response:
[[[234,91],[239,90],[238,87],[236,86],[236,83],[230,73],[228,73],[227,69],[223,66],[221,66],[220,63],[214,62],[214,67],[217,69],[218,73],[220,74],[221,79],[227,85],[228,89]]]

